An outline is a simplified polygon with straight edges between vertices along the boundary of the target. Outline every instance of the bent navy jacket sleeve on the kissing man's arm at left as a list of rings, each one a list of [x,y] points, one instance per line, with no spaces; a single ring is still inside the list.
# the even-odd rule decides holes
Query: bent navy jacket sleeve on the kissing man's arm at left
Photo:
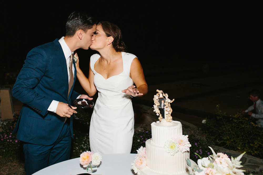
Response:
[[[45,115],[52,102],[50,96],[38,94],[34,91],[47,69],[48,58],[41,48],[32,49],[26,58],[16,83],[12,89],[12,95],[19,101],[32,108],[39,109],[39,114]]]

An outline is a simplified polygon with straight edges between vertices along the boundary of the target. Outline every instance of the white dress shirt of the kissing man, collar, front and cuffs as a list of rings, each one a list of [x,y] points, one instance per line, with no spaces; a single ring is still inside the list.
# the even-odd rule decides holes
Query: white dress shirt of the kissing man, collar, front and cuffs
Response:
[[[68,70],[68,82],[69,82],[69,79],[70,79],[70,75],[69,75],[69,61],[70,61],[70,55],[73,54],[73,52],[71,52],[71,50],[69,49],[68,45],[66,44],[65,40],[64,40],[64,37],[60,38],[58,40],[58,42],[60,43],[61,47],[62,47],[62,50],[64,52],[64,55],[65,55],[65,59],[66,59],[66,62],[67,62],[67,70]],[[72,66],[72,72],[73,72],[73,77],[75,76],[74,75],[74,71],[75,71],[75,68],[74,66]],[[78,98],[80,97],[80,95],[78,96]],[[78,99],[77,98],[77,99]],[[57,111],[57,107],[58,107],[58,102],[59,101],[56,101],[56,100],[53,100],[51,102],[51,104],[49,105],[48,107],[48,111],[51,111],[51,112],[55,112]]]

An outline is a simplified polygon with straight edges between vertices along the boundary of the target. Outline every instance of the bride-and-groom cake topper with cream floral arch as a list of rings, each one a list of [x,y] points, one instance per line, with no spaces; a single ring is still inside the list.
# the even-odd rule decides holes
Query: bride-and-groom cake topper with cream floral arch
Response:
[[[159,120],[161,121],[161,119],[166,120],[166,122],[171,122],[172,121],[172,109],[171,109],[171,105],[170,103],[174,101],[168,99],[168,94],[164,94],[164,92],[162,90],[156,90],[158,93],[156,95],[154,95],[153,101],[154,101],[154,112],[156,112],[156,115],[160,115]],[[162,103],[164,102],[164,104]],[[164,112],[163,115],[161,115],[159,108],[161,108]]]

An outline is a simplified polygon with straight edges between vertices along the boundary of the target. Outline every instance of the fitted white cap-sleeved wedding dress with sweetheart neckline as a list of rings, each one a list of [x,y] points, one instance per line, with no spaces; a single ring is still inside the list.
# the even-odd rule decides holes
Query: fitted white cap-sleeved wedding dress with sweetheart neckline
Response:
[[[134,133],[131,97],[122,92],[133,85],[130,66],[135,55],[122,52],[123,72],[105,79],[94,70],[99,54],[90,57],[98,99],[90,121],[90,149],[101,154],[130,153]]]

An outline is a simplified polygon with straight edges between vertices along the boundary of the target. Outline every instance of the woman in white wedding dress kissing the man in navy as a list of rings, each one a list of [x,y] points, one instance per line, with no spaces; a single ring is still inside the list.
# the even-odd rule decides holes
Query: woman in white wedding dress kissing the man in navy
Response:
[[[122,33],[110,22],[97,25],[90,48],[99,54],[90,57],[89,78],[80,70],[78,57],[76,63],[83,89],[89,96],[98,90],[90,122],[90,149],[101,154],[130,153],[134,133],[131,97],[148,92],[140,61],[124,52]]]

